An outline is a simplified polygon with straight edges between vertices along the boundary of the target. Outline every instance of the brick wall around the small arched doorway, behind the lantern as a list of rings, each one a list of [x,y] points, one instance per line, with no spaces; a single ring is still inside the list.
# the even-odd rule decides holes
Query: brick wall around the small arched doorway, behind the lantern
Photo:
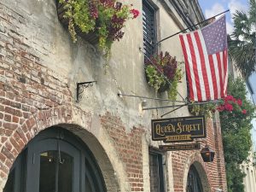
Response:
[[[212,162],[203,162],[199,151],[177,151],[172,153],[172,172],[176,192],[183,191],[184,185],[186,184],[184,173],[187,174],[189,166],[195,162],[197,162],[197,165],[199,162],[204,169],[204,172],[198,170],[203,186],[207,183],[212,192],[217,188],[226,191],[227,186],[220,126],[218,124],[218,126],[214,128],[211,119],[207,119],[207,139],[201,140],[202,147],[206,144],[215,151],[214,160]],[[207,177],[207,179],[204,177]]]

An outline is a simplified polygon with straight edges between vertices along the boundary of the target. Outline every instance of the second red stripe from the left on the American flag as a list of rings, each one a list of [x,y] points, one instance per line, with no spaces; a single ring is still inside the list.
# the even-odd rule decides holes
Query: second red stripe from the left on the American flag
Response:
[[[195,74],[195,87],[197,90],[197,98],[199,101],[201,101],[201,85],[200,85],[200,80],[199,80],[199,75],[198,75],[198,70],[197,70],[197,65],[196,65],[196,55],[195,55],[195,49],[193,46],[193,42],[192,42],[192,38],[191,38],[191,34],[187,34],[187,38],[188,38],[188,42],[189,42],[189,50],[191,53],[191,58],[192,58],[192,67],[193,67],[193,71]]]

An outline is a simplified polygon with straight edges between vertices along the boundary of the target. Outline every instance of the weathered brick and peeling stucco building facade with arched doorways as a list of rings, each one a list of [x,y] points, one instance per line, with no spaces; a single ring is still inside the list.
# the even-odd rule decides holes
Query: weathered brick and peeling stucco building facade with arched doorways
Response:
[[[73,44],[54,0],[1,1],[1,192],[226,191],[218,115],[200,139],[215,151],[204,162],[200,150],[162,151],[165,143],[152,140],[151,119],[173,108],[143,110],[144,99],[120,96],[166,99],[145,78],[145,17],[149,11],[154,30],[149,52],[183,61],[177,36],[155,43],[203,20],[198,2],[128,2],[141,15],[127,22],[106,67],[96,46],[83,38]],[[78,91],[82,82],[92,86]],[[185,77],[178,90],[177,100],[187,96]],[[148,107],[166,105],[172,102],[147,100]],[[166,118],[190,115],[181,108]]]

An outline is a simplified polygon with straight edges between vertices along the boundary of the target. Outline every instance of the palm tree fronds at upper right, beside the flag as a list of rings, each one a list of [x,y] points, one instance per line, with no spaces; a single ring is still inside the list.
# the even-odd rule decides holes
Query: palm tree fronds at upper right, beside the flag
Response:
[[[234,32],[229,38],[230,57],[247,79],[256,71],[256,1],[249,0],[248,14],[236,11]]]

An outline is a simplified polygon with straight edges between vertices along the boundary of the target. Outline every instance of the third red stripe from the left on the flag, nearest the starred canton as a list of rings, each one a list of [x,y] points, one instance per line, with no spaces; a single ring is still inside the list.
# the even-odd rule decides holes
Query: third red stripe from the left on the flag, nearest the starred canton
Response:
[[[209,89],[209,81],[207,77],[205,56],[204,56],[204,52],[202,49],[201,40],[198,32],[195,32],[195,40],[196,40],[197,48],[199,50],[200,61],[201,61],[201,77],[202,77],[202,81],[204,82],[205,97],[203,97],[203,101],[206,101],[207,99],[209,100],[211,98],[211,95],[210,95],[210,89]]]

